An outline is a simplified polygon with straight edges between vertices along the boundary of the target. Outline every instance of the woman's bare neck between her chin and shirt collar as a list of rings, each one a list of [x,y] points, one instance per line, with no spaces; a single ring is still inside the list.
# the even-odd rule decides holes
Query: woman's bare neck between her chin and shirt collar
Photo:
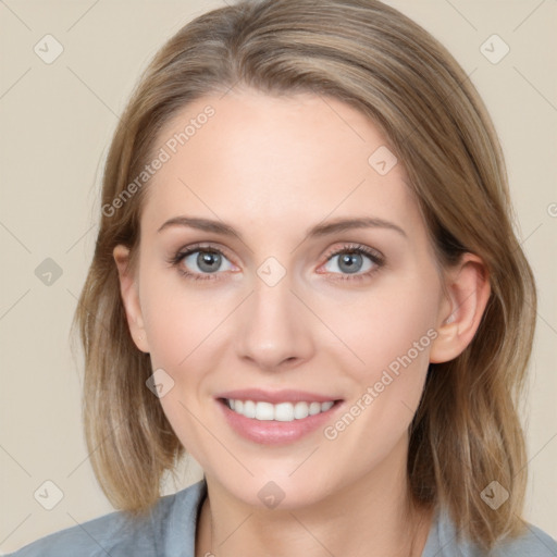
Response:
[[[196,557],[260,557],[269,555],[270,547],[276,557],[420,557],[433,508],[417,506],[410,497],[406,446],[387,460],[381,470],[295,509],[253,508],[232,499],[208,478]]]

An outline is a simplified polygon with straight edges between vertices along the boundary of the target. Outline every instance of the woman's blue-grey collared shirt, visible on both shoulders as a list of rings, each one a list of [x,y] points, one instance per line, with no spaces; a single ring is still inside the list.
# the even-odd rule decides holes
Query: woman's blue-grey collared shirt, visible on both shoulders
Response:
[[[8,557],[195,557],[197,518],[206,496],[203,479],[161,497],[147,518],[114,511],[47,535]],[[487,557],[455,536],[448,513],[437,507],[422,557]],[[488,557],[557,557],[557,542],[529,524],[524,535],[498,544]]]

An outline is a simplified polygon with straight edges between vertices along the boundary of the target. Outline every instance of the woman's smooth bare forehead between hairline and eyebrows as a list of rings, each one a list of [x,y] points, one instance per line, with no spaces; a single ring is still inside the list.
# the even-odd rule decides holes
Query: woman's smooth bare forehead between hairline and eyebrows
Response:
[[[175,114],[154,152],[164,162],[148,186],[143,226],[151,231],[181,213],[238,225],[259,219],[284,227],[356,213],[420,225],[386,137],[336,99],[208,96]]]

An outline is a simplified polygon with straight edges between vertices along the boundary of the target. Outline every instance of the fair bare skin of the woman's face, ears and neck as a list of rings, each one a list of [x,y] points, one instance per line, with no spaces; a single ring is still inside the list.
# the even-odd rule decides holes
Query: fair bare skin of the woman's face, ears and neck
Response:
[[[114,249],[132,336],[152,369],[173,379],[160,401],[206,473],[196,556],[419,556],[432,512],[410,505],[407,430],[429,363],[457,357],[478,329],[490,295],[485,267],[465,255],[447,270],[444,296],[403,164],[386,175],[369,164],[388,141],[349,106],[235,89],[185,107],[157,148],[207,104],[214,116],[148,185],[134,273],[127,249]],[[243,240],[182,226],[157,232],[186,214],[224,221]],[[380,227],[306,234],[370,215],[406,236]],[[205,281],[168,263],[199,242],[225,256]],[[357,281],[329,258],[346,243],[377,250],[384,265],[362,256],[356,274],[375,271]],[[178,265],[202,274],[196,256]],[[268,257],[286,271],[274,286],[257,274]],[[333,441],[318,429],[262,447],[218,411],[216,394],[252,386],[333,395],[346,410],[430,329],[436,338]],[[274,509],[258,497],[269,481],[285,494]]]

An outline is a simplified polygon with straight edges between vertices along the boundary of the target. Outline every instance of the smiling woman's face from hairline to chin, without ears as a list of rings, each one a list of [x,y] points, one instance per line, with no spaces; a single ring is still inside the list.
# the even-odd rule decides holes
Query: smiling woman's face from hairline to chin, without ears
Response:
[[[208,481],[283,508],[400,481],[444,306],[385,138],[341,101],[244,89],[187,106],[154,152],[136,343]]]

